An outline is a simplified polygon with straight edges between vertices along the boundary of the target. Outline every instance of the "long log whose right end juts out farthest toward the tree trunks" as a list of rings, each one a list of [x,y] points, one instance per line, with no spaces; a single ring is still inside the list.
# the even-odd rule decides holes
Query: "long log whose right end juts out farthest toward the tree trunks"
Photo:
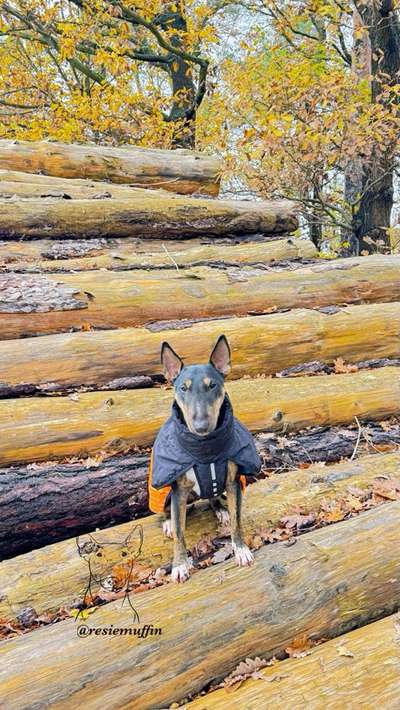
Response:
[[[112,200],[0,200],[0,238],[175,239],[236,234],[282,234],[297,227],[288,200],[244,202],[141,196]]]

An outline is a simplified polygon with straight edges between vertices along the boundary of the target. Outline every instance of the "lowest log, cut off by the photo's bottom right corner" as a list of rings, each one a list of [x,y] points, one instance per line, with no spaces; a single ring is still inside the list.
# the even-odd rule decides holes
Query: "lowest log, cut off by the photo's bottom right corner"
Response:
[[[257,680],[249,678],[237,689],[216,690],[185,707],[395,710],[400,697],[399,634],[400,616],[388,616],[316,646],[303,658],[262,669]]]

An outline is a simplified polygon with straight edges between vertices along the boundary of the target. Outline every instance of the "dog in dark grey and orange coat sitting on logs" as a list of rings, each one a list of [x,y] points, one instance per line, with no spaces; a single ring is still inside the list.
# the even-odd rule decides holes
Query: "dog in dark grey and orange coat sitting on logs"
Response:
[[[241,527],[242,488],[246,476],[259,473],[261,461],[225,392],[231,370],[229,343],[221,335],[206,365],[185,366],[164,342],[161,362],[174,387],[174,402],[152,451],[149,507],[170,515],[163,528],[174,540],[172,579],[184,582],[190,576],[185,526],[187,505],[195,499],[208,499],[218,521],[230,522],[236,563],[251,565],[254,557]]]

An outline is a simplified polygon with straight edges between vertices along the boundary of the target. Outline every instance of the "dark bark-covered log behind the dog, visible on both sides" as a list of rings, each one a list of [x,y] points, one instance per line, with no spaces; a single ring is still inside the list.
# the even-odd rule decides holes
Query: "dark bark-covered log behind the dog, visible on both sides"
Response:
[[[361,440],[355,425],[285,436],[269,432],[256,436],[256,445],[266,470],[282,470],[336,462],[355,451],[399,450],[400,425],[368,422]],[[0,559],[148,514],[148,463],[147,454],[131,453],[0,469]]]

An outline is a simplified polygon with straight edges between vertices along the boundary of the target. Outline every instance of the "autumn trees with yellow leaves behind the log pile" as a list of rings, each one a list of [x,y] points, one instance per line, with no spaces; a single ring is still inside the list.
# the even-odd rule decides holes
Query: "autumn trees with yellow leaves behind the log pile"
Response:
[[[322,252],[397,248],[398,0],[10,0],[0,66],[0,138],[217,153]]]

